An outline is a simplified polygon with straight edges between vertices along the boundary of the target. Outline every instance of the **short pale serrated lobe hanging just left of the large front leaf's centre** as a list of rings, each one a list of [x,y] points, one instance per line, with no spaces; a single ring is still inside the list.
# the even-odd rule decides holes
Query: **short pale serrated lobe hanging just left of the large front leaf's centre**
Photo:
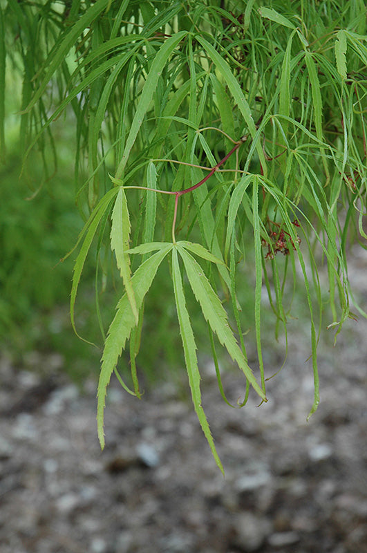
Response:
[[[131,225],[126,195],[124,188],[120,187],[112,211],[111,250],[115,252],[117,267],[120,269],[126,294],[129,298],[133,314],[135,315],[136,324],[138,324],[139,313],[135,303],[133,287],[131,285],[130,258],[127,253],[127,250],[129,250],[130,230]]]

